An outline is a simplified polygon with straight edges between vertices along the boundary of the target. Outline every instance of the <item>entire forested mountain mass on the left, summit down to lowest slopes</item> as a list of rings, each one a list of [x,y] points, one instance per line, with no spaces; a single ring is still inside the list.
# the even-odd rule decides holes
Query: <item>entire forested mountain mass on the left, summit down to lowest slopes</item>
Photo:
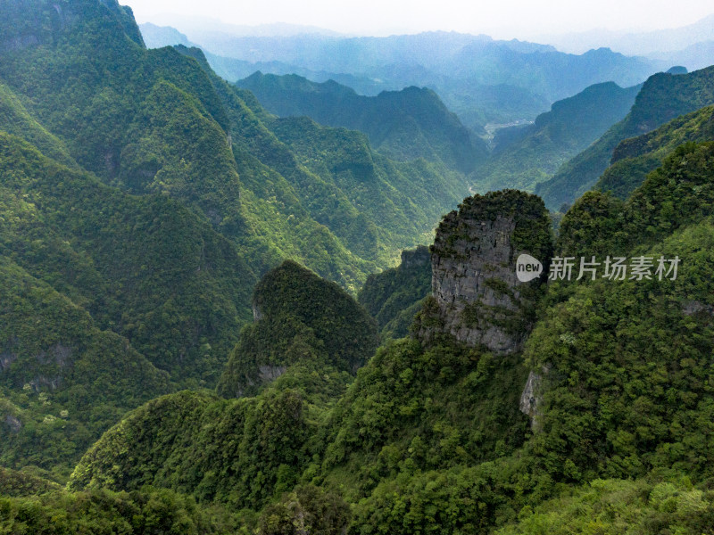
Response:
[[[356,294],[466,190],[461,174],[391,161],[359,132],[270,115],[195,48],[146,49],[113,0],[0,14],[0,459],[12,468],[65,481],[127,410],[215,386],[264,273],[294,259]],[[335,376],[339,389],[350,375]]]

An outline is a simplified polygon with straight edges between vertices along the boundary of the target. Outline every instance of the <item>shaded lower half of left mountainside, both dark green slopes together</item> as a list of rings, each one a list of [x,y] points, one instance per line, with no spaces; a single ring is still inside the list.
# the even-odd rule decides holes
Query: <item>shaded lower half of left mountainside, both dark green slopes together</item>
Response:
[[[215,383],[255,276],[179,203],[122,193],[2,133],[0,173],[0,458],[61,475],[170,380]]]

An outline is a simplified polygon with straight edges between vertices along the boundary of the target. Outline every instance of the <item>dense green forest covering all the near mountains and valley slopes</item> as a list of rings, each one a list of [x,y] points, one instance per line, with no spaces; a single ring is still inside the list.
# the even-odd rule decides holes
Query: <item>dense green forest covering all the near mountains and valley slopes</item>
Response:
[[[714,533],[714,67],[440,36],[560,98],[486,140],[0,15],[0,533]]]

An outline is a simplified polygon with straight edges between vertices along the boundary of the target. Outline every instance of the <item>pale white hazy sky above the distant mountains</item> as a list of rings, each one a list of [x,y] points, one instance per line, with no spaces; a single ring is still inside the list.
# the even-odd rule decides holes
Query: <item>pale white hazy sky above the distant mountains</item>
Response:
[[[714,12],[711,0],[120,0],[139,22],[161,13],[234,24],[308,24],[359,35],[430,29],[528,37],[586,29],[664,29]]]

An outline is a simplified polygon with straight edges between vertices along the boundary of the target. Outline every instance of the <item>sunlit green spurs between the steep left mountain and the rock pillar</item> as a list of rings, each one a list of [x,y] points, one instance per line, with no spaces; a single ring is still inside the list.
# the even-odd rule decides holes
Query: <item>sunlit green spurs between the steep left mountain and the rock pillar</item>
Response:
[[[466,188],[462,175],[443,164],[390,161],[372,151],[365,136],[345,128],[320,127],[306,118],[276,119],[251,93],[216,77],[200,50],[177,50],[199,61],[227,104],[237,125],[231,143],[242,183],[261,196],[270,195],[267,205],[254,207],[259,209],[251,216],[260,221],[256,226],[270,228],[287,218],[288,229],[300,234],[286,236],[281,246],[305,243],[304,252],[297,251],[305,255],[304,263],[353,293],[363,282],[361,271],[391,264],[394,251],[428,241],[444,208]],[[262,169],[250,161],[256,158]],[[275,171],[284,177],[282,184]],[[266,218],[276,208],[275,217]],[[324,235],[326,228],[301,225],[303,217],[327,227],[340,242],[315,247],[316,235]]]

